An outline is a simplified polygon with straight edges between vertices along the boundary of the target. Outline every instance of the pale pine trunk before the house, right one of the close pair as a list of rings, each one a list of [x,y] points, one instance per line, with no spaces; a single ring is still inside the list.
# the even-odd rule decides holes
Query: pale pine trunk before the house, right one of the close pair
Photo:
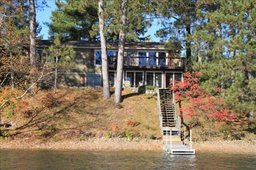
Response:
[[[122,0],[121,20],[122,26],[126,26],[127,15],[127,0]],[[117,56],[117,71],[116,71],[116,87],[114,105],[122,102],[122,78],[124,70],[124,52],[125,52],[125,28],[121,28],[119,32],[118,56]]]

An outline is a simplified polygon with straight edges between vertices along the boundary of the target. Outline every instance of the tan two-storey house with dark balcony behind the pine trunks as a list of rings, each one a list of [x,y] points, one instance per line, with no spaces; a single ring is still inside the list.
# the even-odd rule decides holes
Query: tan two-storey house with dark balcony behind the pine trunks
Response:
[[[37,53],[43,58],[43,49],[53,45],[52,40],[38,40]],[[102,58],[100,42],[61,41],[72,45],[76,52],[74,67],[62,74],[61,85],[67,87],[102,86]],[[154,85],[158,77],[159,87],[167,88],[169,79],[182,81],[186,58],[180,57],[181,45],[174,54],[168,53],[160,42],[125,42],[123,84],[131,87],[139,84]],[[108,64],[111,86],[115,86],[118,42],[108,43]]]

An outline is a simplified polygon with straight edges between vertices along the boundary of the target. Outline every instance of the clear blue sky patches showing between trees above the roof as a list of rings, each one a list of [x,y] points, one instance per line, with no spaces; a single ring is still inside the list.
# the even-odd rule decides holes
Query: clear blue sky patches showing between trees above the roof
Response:
[[[44,11],[39,11],[39,10],[36,11],[36,20],[42,26],[41,34],[44,34],[44,38],[43,38],[44,40],[48,39],[48,27],[45,26],[43,23],[51,22],[51,20],[50,20],[50,17],[52,15],[51,12],[56,9],[55,0],[46,0],[46,1],[47,1],[47,5],[49,6],[49,8],[44,8]],[[157,26],[157,20],[154,20],[151,28],[148,29],[148,32],[145,34],[145,36],[151,35],[150,37],[153,39],[153,42],[159,42],[160,38],[157,38],[154,36],[155,32],[159,28],[160,28],[160,26]]]

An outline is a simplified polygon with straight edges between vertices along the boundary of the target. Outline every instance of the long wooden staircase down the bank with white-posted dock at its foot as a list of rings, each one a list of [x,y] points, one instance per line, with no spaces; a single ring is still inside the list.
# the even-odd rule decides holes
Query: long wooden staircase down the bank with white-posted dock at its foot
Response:
[[[175,94],[170,89],[159,89],[157,77],[156,86],[163,149],[169,154],[195,154],[195,149],[192,149],[192,131],[189,130],[189,147],[185,142],[185,127],[184,134],[181,134],[181,120],[177,114]],[[183,135],[183,141],[181,140],[181,135]]]

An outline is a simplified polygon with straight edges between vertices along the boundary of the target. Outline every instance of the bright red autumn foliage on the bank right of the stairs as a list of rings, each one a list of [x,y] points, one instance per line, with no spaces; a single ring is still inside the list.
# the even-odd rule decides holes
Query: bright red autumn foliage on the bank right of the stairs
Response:
[[[183,116],[190,127],[202,126],[204,132],[214,134],[218,122],[237,119],[238,116],[230,113],[224,107],[224,100],[221,96],[210,96],[201,91],[199,80],[200,73],[193,72],[183,74],[183,82],[175,82],[171,90],[175,92],[177,102],[186,101],[186,105],[180,105],[180,116]],[[170,84],[173,82],[171,81]]]

